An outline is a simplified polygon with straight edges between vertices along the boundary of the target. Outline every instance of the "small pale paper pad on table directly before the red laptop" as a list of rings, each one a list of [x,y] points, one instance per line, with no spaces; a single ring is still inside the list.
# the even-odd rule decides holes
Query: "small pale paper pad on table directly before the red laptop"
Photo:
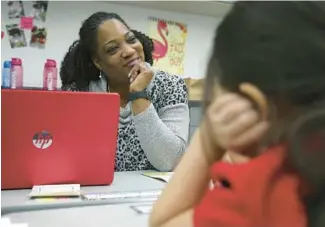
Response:
[[[29,197],[72,197],[80,194],[80,184],[34,185]]]

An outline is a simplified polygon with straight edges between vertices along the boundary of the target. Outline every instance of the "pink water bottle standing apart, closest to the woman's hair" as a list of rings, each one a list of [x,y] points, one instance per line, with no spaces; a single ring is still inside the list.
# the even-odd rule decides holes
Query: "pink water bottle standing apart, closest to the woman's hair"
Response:
[[[52,59],[47,59],[44,65],[43,72],[43,89],[54,91],[57,90],[58,69],[56,62]]]

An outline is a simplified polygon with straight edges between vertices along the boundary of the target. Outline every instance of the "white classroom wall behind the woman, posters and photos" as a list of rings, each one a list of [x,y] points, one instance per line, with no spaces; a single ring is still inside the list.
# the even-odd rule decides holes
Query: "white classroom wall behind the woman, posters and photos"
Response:
[[[6,24],[18,23],[19,19],[9,19],[7,14],[7,2],[1,1],[1,26],[5,31]],[[23,1],[25,15],[29,15],[32,9],[31,1]],[[172,4],[172,2],[171,2]],[[34,21],[34,24],[45,26],[48,31],[48,38],[45,49],[31,47],[11,49],[8,36],[2,39],[1,59],[19,57],[23,59],[24,86],[41,87],[44,63],[47,58],[55,59],[60,67],[60,62],[71,43],[78,38],[78,31],[81,22],[97,11],[116,12],[126,20],[134,29],[147,32],[149,16],[162,19],[175,20],[187,24],[188,37],[185,48],[184,77],[202,78],[205,75],[207,60],[212,47],[214,32],[219,19],[158,11],[113,4],[110,2],[59,2],[50,1],[48,13],[44,23]],[[30,31],[25,30],[27,42],[30,40]],[[59,81],[59,86],[61,82]]]

